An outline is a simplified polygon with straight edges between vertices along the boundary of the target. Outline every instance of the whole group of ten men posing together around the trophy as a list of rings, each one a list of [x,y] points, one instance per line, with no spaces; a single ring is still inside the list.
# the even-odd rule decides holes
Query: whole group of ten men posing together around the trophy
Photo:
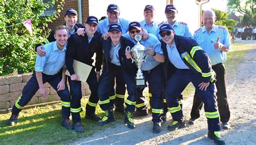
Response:
[[[127,127],[135,128],[132,115],[134,111],[137,115],[147,114],[147,103],[142,93],[144,88],[134,86],[138,68],[132,63],[131,52],[126,49],[136,45],[134,37],[140,35],[143,38],[140,44],[148,55],[141,70],[149,84],[153,133],[161,131],[167,111],[173,119],[167,129],[174,131],[186,126],[181,93],[192,82],[196,92],[189,124],[193,125],[199,118],[204,104],[208,137],[218,144],[225,144],[218,131],[221,129],[220,121],[224,129],[230,128],[224,62],[231,47],[227,29],[214,25],[214,11],[204,12],[204,26],[193,36],[186,23],[176,20],[178,10],[172,4],[166,5],[167,20],[161,24],[154,21],[152,5],[145,6],[145,20],[140,23],[119,18],[119,14],[118,6],[110,4],[106,19],[98,21],[96,17],[89,16],[82,25],[77,24],[76,10],[68,9],[64,17],[66,23],[52,31],[48,38],[50,43],[36,46],[35,72],[12,107],[8,125],[17,122],[19,112],[38,89],[46,97],[43,84],[49,82],[62,103],[62,125],[66,129],[84,132],[79,114],[82,110],[81,82],[73,68],[73,61],[77,60],[93,67],[86,80],[91,95],[86,104],[85,118],[105,125],[115,120],[114,111],[120,111],[125,113]],[[92,56],[95,53],[96,63],[93,66]],[[68,76],[70,93],[66,85],[66,69],[71,75]],[[128,97],[124,99],[126,89]],[[97,103],[105,112],[103,118],[95,114]]]

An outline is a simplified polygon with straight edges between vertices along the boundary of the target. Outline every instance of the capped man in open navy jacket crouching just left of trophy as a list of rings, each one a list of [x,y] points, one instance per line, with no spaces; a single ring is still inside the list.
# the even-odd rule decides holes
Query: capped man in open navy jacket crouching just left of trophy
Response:
[[[125,119],[124,122],[127,127],[133,129],[135,125],[132,121],[132,113],[135,109],[136,101],[136,88],[134,88],[134,77],[136,76],[137,68],[131,60],[127,60],[125,56],[125,49],[127,47],[132,48],[133,43],[122,37],[122,27],[118,23],[111,24],[109,26],[109,38],[107,40],[102,39],[104,50],[104,69],[99,80],[99,105],[105,116],[102,120],[99,120],[99,125],[105,125],[109,122],[115,121],[113,113],[113,102],[109,97],[110,90],[113,89],[112,84],[114,77],[118,74],[122,74],[124,82],[126,83],[129,96],[125,102]]]

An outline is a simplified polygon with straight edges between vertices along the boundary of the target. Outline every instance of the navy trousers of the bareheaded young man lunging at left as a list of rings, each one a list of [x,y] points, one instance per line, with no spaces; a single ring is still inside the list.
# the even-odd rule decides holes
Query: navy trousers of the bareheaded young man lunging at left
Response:
[[[53,89],[56,91],[58,83],[62,80],[62,76],[60,74],[55,75],[46,75],[42,73],[43,83],[48,82]],[[22,108],[29,103],[32,97],[35,95],[37,90],[39,89],[39,85],[36,79],[36,73],[32,74],[32,77],[29,79],[29,82],[26,83],[22,90],[22,95],[17,99],[16,103],[12,107],[12,114],[18,114]],[[57,91],[58,96],[62,102],[62,116],[69,117],[70,116],[70,93],[68,89],[68,85],[65,84],[65,89],[61,91]]]

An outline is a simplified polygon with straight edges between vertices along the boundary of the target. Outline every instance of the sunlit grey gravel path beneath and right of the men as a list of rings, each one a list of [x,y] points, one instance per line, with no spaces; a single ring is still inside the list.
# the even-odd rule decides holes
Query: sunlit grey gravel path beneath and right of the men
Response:
[[[240,41],[243,42],[243,41]],[[248,41],[245,41],[248,42]],[[231,111],[230,130],[221,130],[226,144],[256,144],[256,42],[255,49],[248,51],[237,75],[227,78],[227,94]],[[185,120],[190,118],[193,96],[183,102]],[[144,118],[135,118],[135,129],[129,129],[119,123],[114,128],[107,128],[90,137],[85,137],[72,144],[214,144],[207,138],[207,125],[204,111],[195,125],[177,131],[167,130],[169,121],[162,125],[159,134],[152,133],[151,114]]]

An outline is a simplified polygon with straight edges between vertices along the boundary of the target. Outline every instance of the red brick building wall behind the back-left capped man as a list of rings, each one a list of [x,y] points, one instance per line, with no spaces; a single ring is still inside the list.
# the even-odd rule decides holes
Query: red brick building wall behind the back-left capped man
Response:
[[[65,23],[64,15],[66,10],[68,9],[75,9],[78,11],[78,4],[77,0],[66,0],[63,6],[63,10],[60,12],[60,16],[58,19],[54,20],[53,23],[49,23],[49,28],[54,29],[55,27],[62,25]],[[83,23],[86,18],[89,16],[89,0],[82,1],[82,16],[83,16]]]

